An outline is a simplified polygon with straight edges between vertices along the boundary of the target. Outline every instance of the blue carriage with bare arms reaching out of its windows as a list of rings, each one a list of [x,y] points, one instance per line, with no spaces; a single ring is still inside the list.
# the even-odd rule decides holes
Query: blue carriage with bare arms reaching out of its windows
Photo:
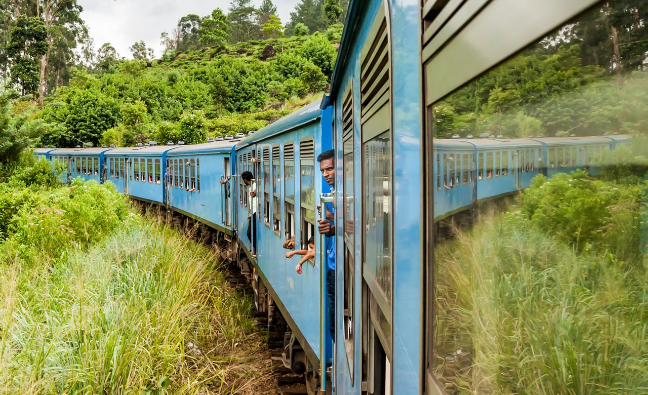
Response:
[[[298,374],[307,373],[311,383],[318,376],[321,356],[320,274],[325,263],[316,254],[303,265],[301,275],[297,274],[299,256],[287,259],[286,252],[292,249],[283,245],[294,239],[295,249],[306,250],[308,239],[314,237],[316,251],[324,248],[316,233],[317,197],[324,189],[316,158],[332,147],[332,136],[329,112],[319,107],[320,101],[313,102],[242,139],[236,147],[237,177],[232,186],[236,190],[240,259],[253,265],[249,270],[255,302],[260,311],[268,310],[269,316],[273,304],[279,308],[292,333],[290,341],[286,339],[284,364]],[[251,187],[241,178],[244,171],[255,177],[255,205],[249,198]],[[250,215],[255,223],[256,248],[248,238]],[[265,292],[269,299],[263,297]],[[326,331],[326,361],[331,359],[330,344]]]

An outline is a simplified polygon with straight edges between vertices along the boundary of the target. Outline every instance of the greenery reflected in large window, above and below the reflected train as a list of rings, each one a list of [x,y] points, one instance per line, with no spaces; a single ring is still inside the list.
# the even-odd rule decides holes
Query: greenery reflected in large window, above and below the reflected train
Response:
[[[446,393],[648,391],[647,22],[646,2],[603,3],[435,104],[437,139],[632,134],[581,169],[538,158],[505,212],[437,243]]]

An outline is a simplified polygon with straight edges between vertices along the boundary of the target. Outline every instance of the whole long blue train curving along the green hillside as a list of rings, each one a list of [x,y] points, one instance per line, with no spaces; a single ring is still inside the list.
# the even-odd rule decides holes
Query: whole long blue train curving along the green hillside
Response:
[[[515,194],[538,174],[596,174],[605,152],[632,136],[629,128],[595,127],[590,119],[573,126],[584,136],[562,130],[561,137],[459,138],[459,132],[480,131],[474,121],[461,124],[454,138],[438,138],[435,114],[450,103],[457,119],[479,120],[474,108],[457,110],[479,93],[482,109],[500,100],[506,111],[537,115],[543,127],[554,127],[559,122],[547,103],[603,83],[587,85],[578,77],[572,88],[555,91],[545,82],[522,104],[519,95],[505,96],[511,82],[485,93],[471,89],[497,80],[492,76],[519,56],[554,54],[559,44],[577,40],[579,21],[604,29],[592,14],[608,3],[351,0],[329,93],[261,130],[198,145],[151,142],[35,154],[63,163],[65,179],[113,182],[134,199],[211,227],[223,256],[251,282],[259,311],[270,323],[285,322],[284,365],[306,377],[309,392],[455,393],[435,370],[436,225]],[[601,81],[618,78],[616,60]],[[318,155],[327,150],[334,151],[332,186],[318,172]],[[242,177],[248,171],[249,183]],[[326,329],[321,205],[334,217],[333,336]],[[297,274],[285,254],[307,249],[311,238],[316,254]]]

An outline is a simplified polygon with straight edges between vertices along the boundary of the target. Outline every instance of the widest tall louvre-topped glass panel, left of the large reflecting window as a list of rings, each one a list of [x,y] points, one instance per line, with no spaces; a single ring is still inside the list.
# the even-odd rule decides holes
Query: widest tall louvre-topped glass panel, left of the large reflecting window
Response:
[[[387,7],[378,11],[360,60],[362,389],[391,394],[391,53]],[[372,39],[373,38],[373,39]],[[378,98],[378,99],[376,99]]]

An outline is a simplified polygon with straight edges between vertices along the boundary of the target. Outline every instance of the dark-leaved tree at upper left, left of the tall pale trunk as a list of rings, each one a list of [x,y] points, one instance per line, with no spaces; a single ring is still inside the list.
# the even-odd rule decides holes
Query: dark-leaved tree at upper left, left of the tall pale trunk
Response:
[[[6,47],[13,64],[11,80],[22,88],[23,95],[38,90],[38,58],[47,52],[47,29],[40,18],[21,16],[10,31]]]

